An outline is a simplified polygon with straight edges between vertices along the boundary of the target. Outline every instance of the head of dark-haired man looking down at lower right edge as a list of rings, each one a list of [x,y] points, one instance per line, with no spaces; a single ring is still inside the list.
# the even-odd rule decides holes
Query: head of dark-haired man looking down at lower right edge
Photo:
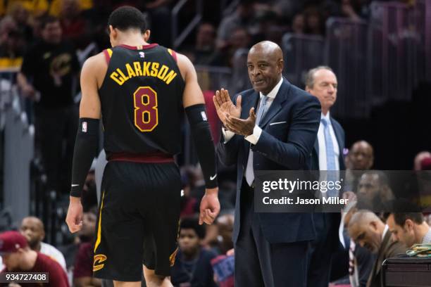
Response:
[[[430,244],[431,229],[421,212],[394,212],[387,218],[392,239],[410,248],[413,244]]]

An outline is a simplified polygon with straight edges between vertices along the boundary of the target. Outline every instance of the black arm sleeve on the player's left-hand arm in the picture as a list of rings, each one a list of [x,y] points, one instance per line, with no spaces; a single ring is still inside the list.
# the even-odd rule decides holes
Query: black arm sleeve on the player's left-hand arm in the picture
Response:
[[[80,118],[73,151],[72,186],[70,196],[81,197],[85,178],[97,155],[99,144],[99,121],[87,117]]]

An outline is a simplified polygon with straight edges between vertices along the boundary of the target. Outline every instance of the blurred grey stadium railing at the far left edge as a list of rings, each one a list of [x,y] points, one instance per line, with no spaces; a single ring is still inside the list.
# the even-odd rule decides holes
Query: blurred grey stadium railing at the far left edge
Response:
[[[3,155],[3,204],[11,210],[16,224],[30,214],[30,164],[34,154],[35,129],[28,124],[27,113],[13,85],[15,72],[0,72],[0,117],[4,133]]]

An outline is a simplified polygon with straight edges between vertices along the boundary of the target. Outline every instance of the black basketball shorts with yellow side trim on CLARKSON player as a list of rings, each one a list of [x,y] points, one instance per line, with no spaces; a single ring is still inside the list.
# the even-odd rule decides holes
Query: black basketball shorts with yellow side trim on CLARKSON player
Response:
[[[93,276],[141,281],[142,264],[170,276],[177,252],[181,179],[174,162],[108,162],[96,225]]]

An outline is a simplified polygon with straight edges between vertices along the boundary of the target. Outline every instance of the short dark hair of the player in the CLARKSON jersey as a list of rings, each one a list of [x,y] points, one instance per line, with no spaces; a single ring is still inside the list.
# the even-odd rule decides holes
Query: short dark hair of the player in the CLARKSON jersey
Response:
[[[132,6],[121,6],[109,15],[108,25],[118,30],[139,29],[142,33],[146,31],[144,14]]]

